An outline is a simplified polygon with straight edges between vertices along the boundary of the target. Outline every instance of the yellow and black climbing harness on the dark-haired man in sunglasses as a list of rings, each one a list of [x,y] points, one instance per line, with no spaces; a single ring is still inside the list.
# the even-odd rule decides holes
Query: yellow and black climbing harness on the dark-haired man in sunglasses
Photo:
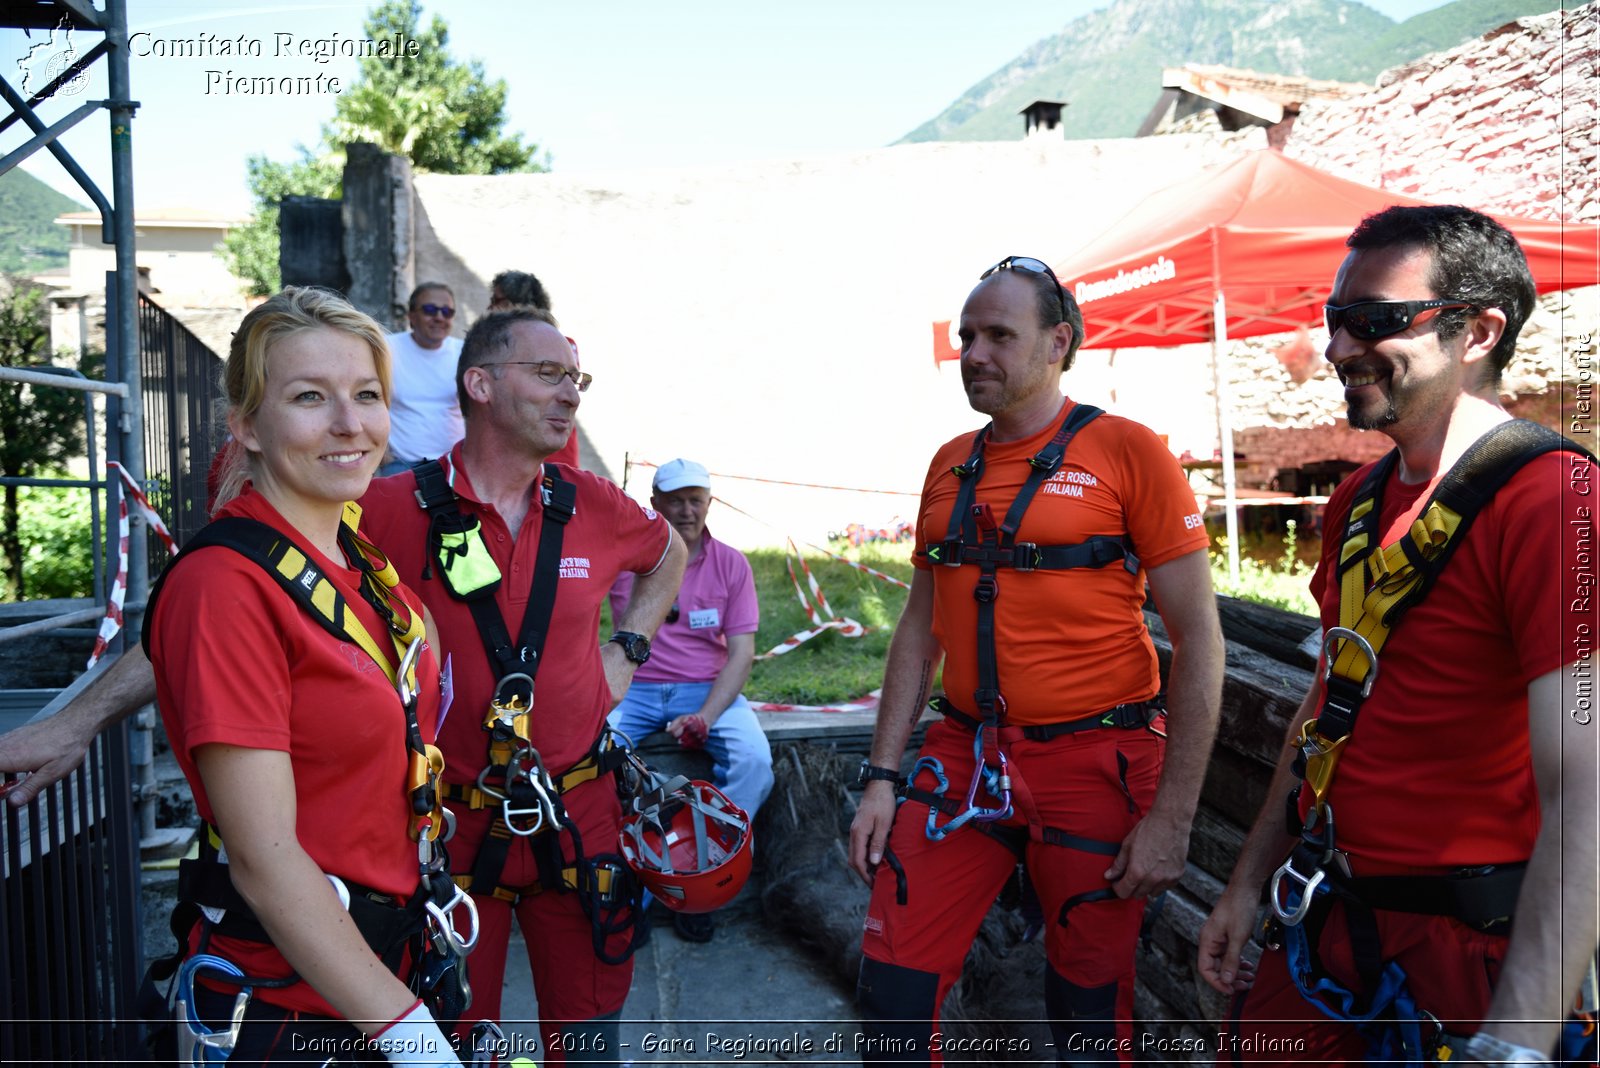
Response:
[[[1290,793],[1290,833],[1294,851],[1272,876],[1269,902],[1301,994],[1323,1014],[1357,1026],[1368,1057],[1421,1063],[1443,1060],[1459,1049],[1421,1009],[1405,972],[1379,956],[1374,910],[1453,916],[1491,934],[1510,927],[1525,865],[1485,865],[1434,876],[1357,878],[1338,847],[1338,822],[1330,799],[1334,772],[1350,743],[1363,702],[1379,681],[1384,644],[1406,611],[1437,582],[1494,492],[1522,467],[1544,452],[1581,446],[1526,420],[1499,424],[1480,436],[1445,473],[1410,531],[1379,547],[1382,489],[1400,452],[1379,460],[1355,492],[1339,544],[1339,625],[1323,638],[1323,705],[1294,739],[1294,772],[1301,783]],[[1299,796],[1309,791],[1306,815]],[[1317,956],[1317,943],[1333,903],[1342,905],[1360,990],[1331,978]],[[1454,1042],[1454,1044],[1453,1044]]]

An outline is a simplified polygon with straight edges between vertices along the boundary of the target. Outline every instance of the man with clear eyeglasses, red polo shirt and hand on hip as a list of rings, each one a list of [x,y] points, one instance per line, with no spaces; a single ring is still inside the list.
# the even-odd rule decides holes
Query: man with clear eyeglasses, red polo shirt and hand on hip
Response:
[[[563,467],[554,473],[576,489],[574,507],[562,524],[555,588],[541,585],[539,550],[554,536],[546,521],[555,494],[546,481],[554,468],[547,460],[573,433],[590,382],[549,312],[522,307],[485,315],[467,333],[456,373],[466,435],[442,462],[461,516],[477,526],[459,545],[462,558],[486,553],[493,561],[499,585],[491,604],[507,638],[530,648],[520,630],[525,617],[541,593],[554,593],[544,649],[522,657],[517,671],[533,678],[526,740],[558,780],[571,780],[570,769],[587,759],[606,713],[650,659],[650,638],[672,604],[685,561],[682,539],[662,516],[611,481]],[[450,553],[442,556],[418,489],[418,472],[376,480],[360,502],[362,524],[422,596],[443,644],[440,659],[448,665],[453,697],[442,713],[438,747],[446,761],[446,806],[456,817],[450,860],[458,881],[490,863],[480,860],[490,841],[506,846],[504,859],[490,865],[496,868],[488,873],[494,894],[474,892],[482,935],[469,962],[470,1018],[499,1018],[515,915],[546,1038],[539,1063],[614,1062],[616,1014],[634,970],[627,959],[630,911],[606,913],[602,926],[610,927],[597,927],[589,915],[594,902],[557,887],[566,876],[555,870],[549,849],[558,846],[563,868],[574,867],[579,849],[590,862],[614,854],[621,823],[616,787],[602,774],[563,788],[560,801],[571,828],[554,838],[510,830],[498,799],[504,795],[480,788],[488,764],[485,713],[502,673],[491,662],[472,604],[446,585]],[[632,601],[616,619],[613,640],[597,646],[600,603],[624,571],[635,576]],[[605,956],[621,962],[603,959],[597,940]]]

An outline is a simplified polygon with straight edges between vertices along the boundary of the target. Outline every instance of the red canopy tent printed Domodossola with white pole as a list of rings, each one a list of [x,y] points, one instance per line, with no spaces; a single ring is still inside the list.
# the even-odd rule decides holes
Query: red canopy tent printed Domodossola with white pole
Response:
[[[1355,224],[1418,203],[1426,201],[1262,149],[1147,197],[1056,267],[1083,307],[1086,349],[1213,342],[1232,571],[1237,492],[1222,344],[1320,323]],[[1539,293],[1600,283],[1600,227],[1496,217],[1522,241]],[[934,358],[949,349],[947,331],[934,328]]]

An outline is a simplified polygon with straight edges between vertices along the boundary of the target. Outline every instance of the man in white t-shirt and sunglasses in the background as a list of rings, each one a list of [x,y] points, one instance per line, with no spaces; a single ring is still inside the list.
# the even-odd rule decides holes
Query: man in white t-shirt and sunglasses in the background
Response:
[[[442,281],[411,291],[406,320],[411,329],[389,334],[394,355],[394,397],[389,404],[389,454],[379,476],[395,475],[450,452],[461,440],[461,403],[456,400],[456,361],[461,339],[450,336],[456,296]]]

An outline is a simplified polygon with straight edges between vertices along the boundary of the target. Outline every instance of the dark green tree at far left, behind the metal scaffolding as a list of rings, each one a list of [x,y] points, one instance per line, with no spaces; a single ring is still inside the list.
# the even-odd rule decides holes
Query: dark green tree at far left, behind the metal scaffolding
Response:
[[[0,366],[50,365],[50,313],[45,289],[0,280]],[[83,397],[75,390],[0,382],[0,475],[34,478],[83,451]],[[18,488],[6,486],[0,505],[0,556],[18,600],[27,595],[22,571]]]

